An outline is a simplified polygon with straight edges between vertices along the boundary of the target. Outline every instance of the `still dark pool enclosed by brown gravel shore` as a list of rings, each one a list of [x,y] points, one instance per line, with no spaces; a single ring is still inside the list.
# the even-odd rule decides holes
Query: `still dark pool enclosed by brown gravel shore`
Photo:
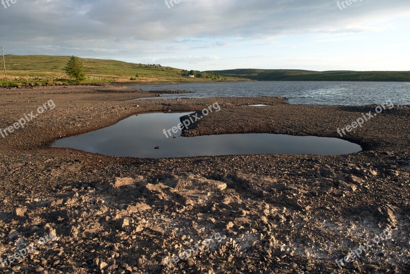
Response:
[[[117,124],[56,141],[64,147],[109,156],[136,158],[179,158],[238,154],[348,154],[361,150],[337,138],[279,134],[229,134],[166,138],[163,129],[176,126],[188,113],[147,113],[134,115]],[[159,146],[159,149],[155,147]]]

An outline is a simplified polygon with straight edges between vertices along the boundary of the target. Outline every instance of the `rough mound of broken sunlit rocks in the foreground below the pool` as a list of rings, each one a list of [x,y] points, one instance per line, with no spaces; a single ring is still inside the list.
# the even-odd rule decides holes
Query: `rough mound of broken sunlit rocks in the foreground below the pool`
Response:
[[[58,197],[27,200],[24,208],[0,221],[1,258],[13,256],[28,243],[38,246],[1,269],[331,271],[334,259],[343,258],[361,241],[370,241],[385,225],[392,229],[396,244],[382,242],[364,260],[377,258],[384,264],[392,258],[403,260],[404,253],[409,256],[408,227],[397,229],[405,212],[391,205],[367,207],[351,211],[346,219],[332,214],[331,208],[323,211],[312,203],[318,196],[349,193],[353,185],[360,188],[365,183],[336,180],[329,166],[317,171],[319,177],[300,183],[235,173],[213,178],[162,174],[154,179],[137,176],[73,184],[61,189]],[[50,231],[55,234],[53,241],[38,245],[38,239]],[[400,251],[397,243],[403,247]],[[360,265],[353,262],[346,269],[369,270]]]

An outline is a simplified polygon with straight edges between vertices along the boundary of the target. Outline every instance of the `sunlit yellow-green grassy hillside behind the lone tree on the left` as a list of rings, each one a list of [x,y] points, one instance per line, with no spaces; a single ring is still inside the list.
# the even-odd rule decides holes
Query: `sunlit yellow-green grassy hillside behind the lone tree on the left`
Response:
[[[3,64],[0,69],[1,86],[62,85],[75,83],[64,67],[70,56],[5,55],[8,81],[4,79]],[[2,60],[3,61],[3,60]],[[181,76],[181,69],[154,65],[133,64],[115,60],[80,58],[87,80],[84,83],[145,83],[211,81],[207,78],[189,79]],[[130,80],[130,79],[133,80]],[[218,81],[233,81],[221,77]]]

